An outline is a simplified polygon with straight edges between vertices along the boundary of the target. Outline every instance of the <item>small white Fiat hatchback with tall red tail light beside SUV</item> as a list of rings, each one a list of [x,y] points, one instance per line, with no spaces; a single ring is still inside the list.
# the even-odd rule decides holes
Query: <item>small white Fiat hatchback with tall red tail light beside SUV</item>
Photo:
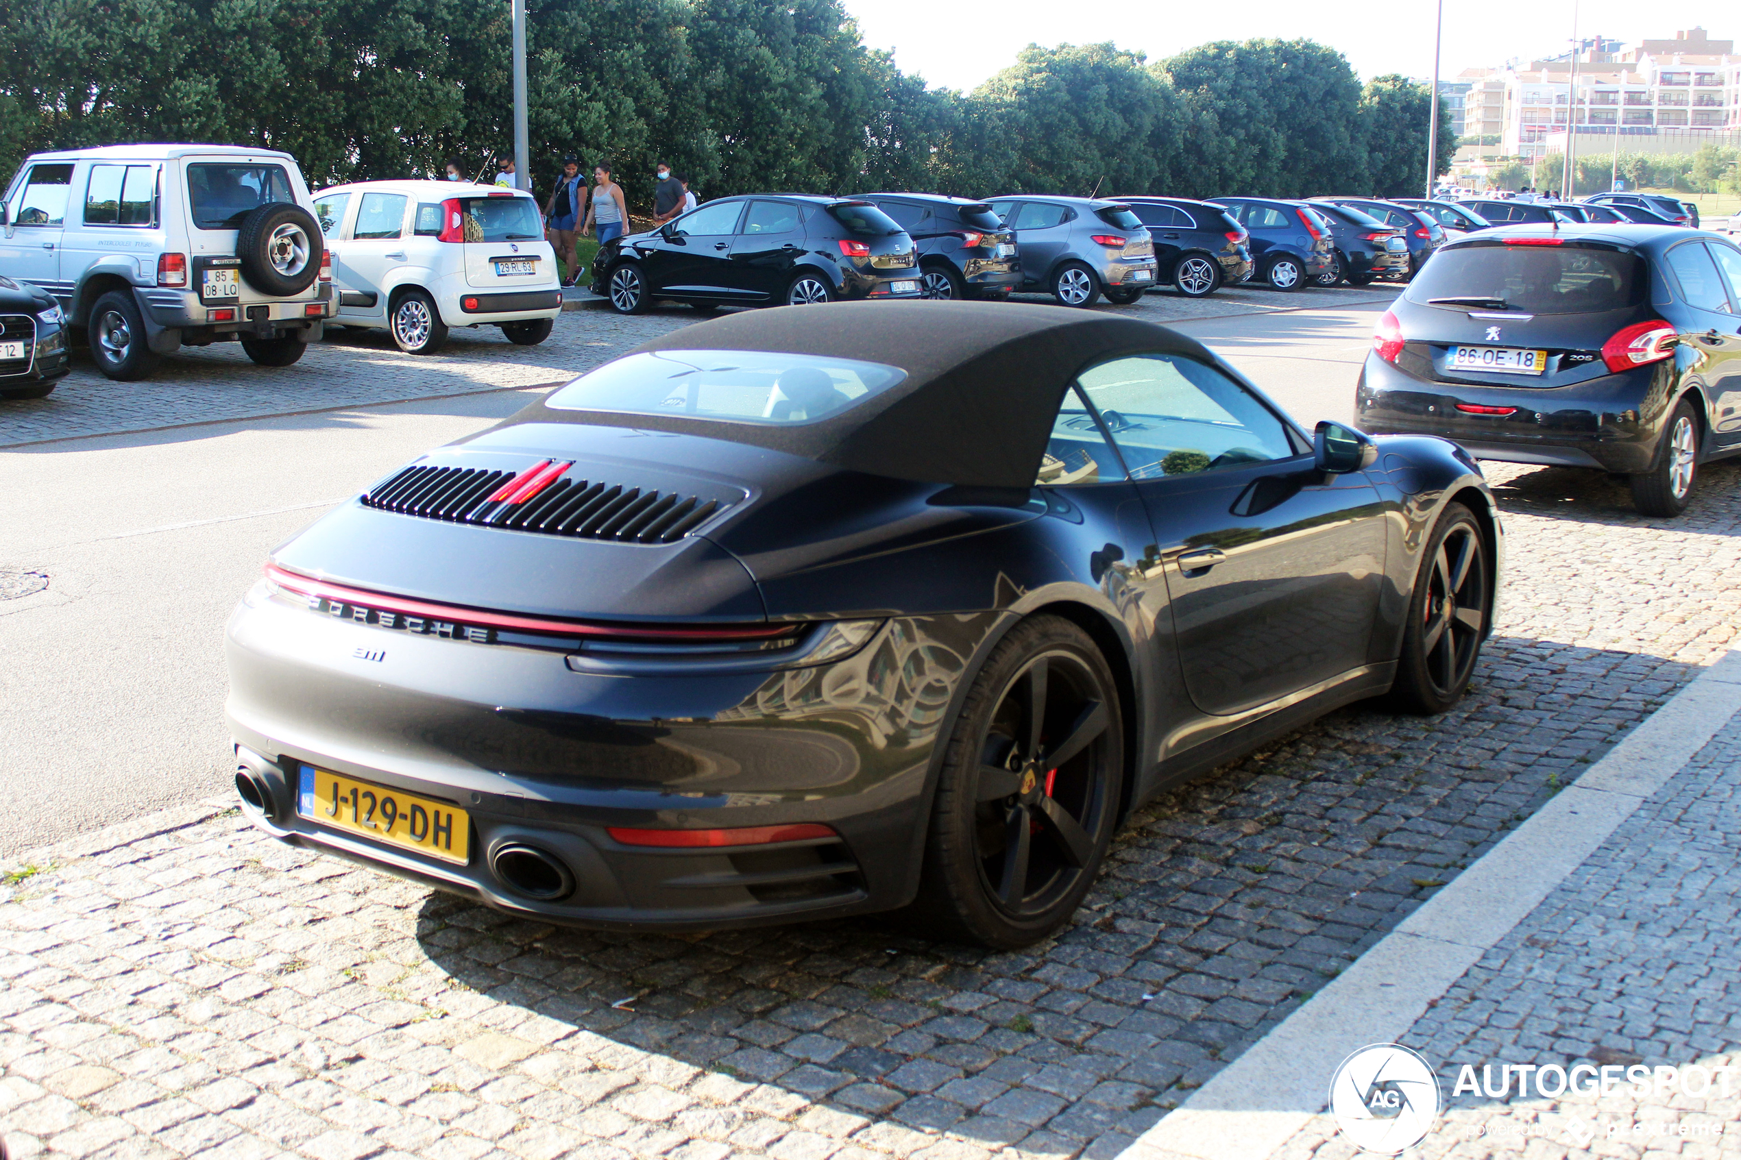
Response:
[[[359,181],[315,195],[333,254],[333,322],[385,327],[427,355],[447,327],[534,346],[562,313],[555,250],[531,193],[460,181]]]

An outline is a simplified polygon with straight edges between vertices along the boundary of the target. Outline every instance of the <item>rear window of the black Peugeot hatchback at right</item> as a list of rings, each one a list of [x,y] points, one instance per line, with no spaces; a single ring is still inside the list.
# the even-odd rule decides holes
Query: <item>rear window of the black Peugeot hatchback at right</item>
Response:
[[[1642,306],[1649,271],[1637,254],[1593,245],[1450,245],[1433,256],[1405,297],[1450,310],[1583,315]]]

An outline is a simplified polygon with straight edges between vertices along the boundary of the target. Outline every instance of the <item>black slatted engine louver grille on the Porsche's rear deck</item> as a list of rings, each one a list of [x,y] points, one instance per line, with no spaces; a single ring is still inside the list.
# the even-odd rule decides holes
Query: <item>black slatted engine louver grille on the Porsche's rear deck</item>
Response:
[[[731,506],[698,496],[576,478],[561,478],[524,503],[491,499],[514,478],[514,471],[484,468],[406,468],[369,490],[362,503],[427,520],[637,544],[682,539]]]

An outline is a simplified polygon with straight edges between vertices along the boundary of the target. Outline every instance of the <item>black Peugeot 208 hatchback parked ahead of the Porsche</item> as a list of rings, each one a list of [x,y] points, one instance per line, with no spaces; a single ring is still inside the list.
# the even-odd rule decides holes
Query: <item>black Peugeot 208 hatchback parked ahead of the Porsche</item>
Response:
[[[1381,320],[1356,412],[1482,459],[1631,477],[1678,515],[1741,454],[1741,249],[1680,226],[1508,226],[1452,242]]]

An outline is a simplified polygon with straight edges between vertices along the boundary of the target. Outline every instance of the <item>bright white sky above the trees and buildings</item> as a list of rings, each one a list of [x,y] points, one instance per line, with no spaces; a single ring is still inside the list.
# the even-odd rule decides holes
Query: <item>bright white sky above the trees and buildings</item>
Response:
[[[1435,0],[1393,3],[1302,3],[1301,0],[844,0],[865,43],[893,49],[904,73],[933,87],[973,89],[1015,63],[1027,43],[1099,43],[1140,50],[1151,61],[1208,40],[1309,38],[1339,49],[1361,80],[1382,73],[1433,75]],[[1563,52],[1572,38],[1574,0],[1445,5],[1442,75],[1509,57]],[[1741,40],[1741,5],[1720,0],[1577,0],[1583,37],[1671,38],[1704,26],[1715,38]]]

